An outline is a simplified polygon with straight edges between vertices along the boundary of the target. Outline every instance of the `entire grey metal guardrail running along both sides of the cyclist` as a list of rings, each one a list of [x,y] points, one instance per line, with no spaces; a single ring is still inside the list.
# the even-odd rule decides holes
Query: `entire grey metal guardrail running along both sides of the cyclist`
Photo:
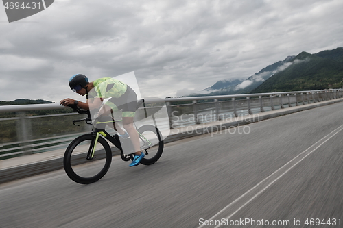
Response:
[[[260,94],[237,94],[222,96],[204,96],[204,97],[178,97],[166,99],[145,99],[147,109],[152,103],[161,103],[165,101],[169,117],[170,128],[183,127],[194,124],[201,124],[212,121],[220,121],[226,118],[234,118],[247,114],[257,114],[269,110],[283,109],[305,105],[307,103],[316,103],[337,99],[343,97],[343,89],[337,90],[310,90],[296,92],[271,92]],[[16,131],[16,140],[13,142],[3,142],[0,138],[0,160],[9,157],[15,157],[23,154],[40,153],[49,149],[66,147],[69,142],[79,134],[83,134],[86,129],[81,128],[78,133],[64,133],[60,136],[54,134],[44,137],[32,137],[32,125],[36,126],[43,118],[49,125],[58,125],[61,118],[64,120],[72,118],[75,113],[55,114],[43,116],[27,116],[25,112],[33,110],[58,110],[65,109],[62,105],[40,104],[40,105],[5,105],[0,106],[1,112],[16,112],[16,117],[0,118],[1,123],[5,121],[14,122]],[[75,117],[75,116],[74,116]],[[71,123],[71,122],[70,122]],[[38,129],[39,131],[39,129]],[[35,138],[35,139],[32,139]]]

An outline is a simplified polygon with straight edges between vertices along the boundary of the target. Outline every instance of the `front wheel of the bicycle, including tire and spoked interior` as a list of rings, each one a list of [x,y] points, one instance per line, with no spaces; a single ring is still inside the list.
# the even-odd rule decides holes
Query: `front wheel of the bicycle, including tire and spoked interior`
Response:
[[[77,183],[93,183],[107,173],[112,161],[110,146],[104,138],[86,134],[75,138],[64,153],[64,170],[68,177]],[[88,157],[88,151],[94,151]]]

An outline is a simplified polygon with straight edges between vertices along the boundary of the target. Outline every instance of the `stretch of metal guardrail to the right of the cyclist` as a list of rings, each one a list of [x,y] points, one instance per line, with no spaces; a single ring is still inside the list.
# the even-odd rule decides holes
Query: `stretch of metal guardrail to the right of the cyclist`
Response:
[[[165,99],[171,128],[192,124],[220,121],[225,118],[256,114],[269,110],[283,109],[307,103],[337,99],[343,96],[343,89],[309,90],[294,92],[270,92],[259,94],[237,94],[204,97],[180,97]],[[245,98],[245,99],[244,99]],[[190,104],[173,104],[191,101]],[[200,102],[202,101],[202,102]],[[183,111],[182,111],[183,109]],[[183,116],[183,117],[182,117]]]

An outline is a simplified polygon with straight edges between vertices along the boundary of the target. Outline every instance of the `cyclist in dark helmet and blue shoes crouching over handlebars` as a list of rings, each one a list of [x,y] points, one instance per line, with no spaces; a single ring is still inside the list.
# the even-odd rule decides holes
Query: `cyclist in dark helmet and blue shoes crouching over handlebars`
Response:
[[[113,127],[119,133],[119,136],[123,138],[130,136],[135,153],[134,159],[129,166],[139,165],[145,154],[139,148],[139,135],[133,125],[134,114],[137,108],[137,94],[134,90],[122,81],[110,77],[99,78],[89,82],[88,78],[82,74],[73,75],[69,79],[69,86],[73,92],[81,96],[86,95],[87,100],[86,102],[81,102],[67,98],[60,101],[61,105],[77,105],[82,109],[93,112],[96,110],[95,117],[99,116],[102,120],[108,120],[110,118],[109,115],[113,111],[123,110],[123,127],[126,132],[116,124],[110,125],[110,127]],[[104,99],[108,100],[103,104]],[[113,123],[113,118],[110,118],[110,120]]]

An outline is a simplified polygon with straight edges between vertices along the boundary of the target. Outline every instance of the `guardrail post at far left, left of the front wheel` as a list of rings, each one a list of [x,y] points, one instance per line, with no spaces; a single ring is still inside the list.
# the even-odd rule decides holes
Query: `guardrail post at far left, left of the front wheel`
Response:
[[[25,116],[25,112],[16,112],[19,117],[20,124],[16,127],[16,134],[22,146],[23,155],[31,154],[31,146],[29,144],[29,118]]]

